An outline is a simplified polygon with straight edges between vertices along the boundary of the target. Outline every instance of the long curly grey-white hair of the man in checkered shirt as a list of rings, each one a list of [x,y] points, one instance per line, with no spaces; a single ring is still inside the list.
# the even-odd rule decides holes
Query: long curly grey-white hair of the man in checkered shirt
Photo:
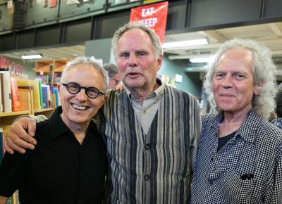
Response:
[[[216,106],[214,95],[212,94],[212,79],[217,68],[219,58],[231,49],[247,49],[252,52],[253,65],[252,73],[254,76],[254,85],[260,84],[259,95],[252,97],[253,110],[262,118],[267,119],[274,111],[274,97],[277,92],[275,70],[276,66],[271,58],[271,50],[264,44],[260,44],[252,39],[231,39],[225,42],[216,52],[214,62],[209,65],[207,75],[204,81],[211,106]]]

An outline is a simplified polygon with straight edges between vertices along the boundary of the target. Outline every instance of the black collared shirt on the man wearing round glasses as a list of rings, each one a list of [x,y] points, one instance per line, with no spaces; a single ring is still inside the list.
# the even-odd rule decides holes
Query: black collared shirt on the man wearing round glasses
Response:
[[[37,124],[34,151],[5,154],[0,167],[0,195],[19,189],[20,203],[102,203],[107,172],[106,147],[94,122],[80,143],[57,108]]]

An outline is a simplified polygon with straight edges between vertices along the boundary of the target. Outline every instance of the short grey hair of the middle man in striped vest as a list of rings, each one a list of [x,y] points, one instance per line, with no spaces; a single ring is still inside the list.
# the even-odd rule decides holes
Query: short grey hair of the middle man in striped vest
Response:
[[[135,28],[144,30],[145,32],[147,32],[147,34],[149,34],[149,37],[152,39],[152,42],[153,42],[154,55],[156,59],[164,55],[164,50],[161,46],[161,41],[159,40],[159,37],[154,32],[154,30],[150,29],[149,27],[146,27],[145,25],[142,25],[142,23],[130,22],[130,23],[126,23],[125,25],[123,25],[123,27],[120,27],[118,30],[116,30],[114,34],[114,37],[112,39],[112,46],[113,46],[113,52],[114,52],[115,58],[117,57],[116,55],[118,51],[119,39],[121,39],[121,36],[123,36],[125,32],[127,32],[128,30],[135,29]]]

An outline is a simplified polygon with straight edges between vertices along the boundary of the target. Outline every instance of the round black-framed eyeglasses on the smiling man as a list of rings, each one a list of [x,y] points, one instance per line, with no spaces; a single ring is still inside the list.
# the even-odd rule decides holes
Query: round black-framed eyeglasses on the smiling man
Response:
[[[70,94],[78,94],[81,89],[85,89],[85,93],[89,98],[97,98],[99,95],[105,95],[105,93],[99,91],[95,87],[80,87],[80,84],[75,82],[68,82],[68,84],[63,84]]]

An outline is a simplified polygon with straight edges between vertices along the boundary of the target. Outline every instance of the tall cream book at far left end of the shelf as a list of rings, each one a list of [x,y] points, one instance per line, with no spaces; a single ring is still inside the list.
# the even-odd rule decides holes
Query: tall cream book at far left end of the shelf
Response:
[[[4,104],[4,112],[12,112],[12,98],[11,98],[11,82],[10,82],[10,72],[9,71],[2,71],[0,70],[0,73],[3,75],[3,98],[4,101],[2,103]]]

